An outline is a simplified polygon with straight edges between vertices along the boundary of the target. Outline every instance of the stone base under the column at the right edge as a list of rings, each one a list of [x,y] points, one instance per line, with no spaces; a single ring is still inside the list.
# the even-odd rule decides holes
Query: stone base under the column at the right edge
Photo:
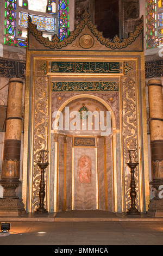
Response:
[[[148,216],[163,217],[163,199],[153,198],[148,205]]]

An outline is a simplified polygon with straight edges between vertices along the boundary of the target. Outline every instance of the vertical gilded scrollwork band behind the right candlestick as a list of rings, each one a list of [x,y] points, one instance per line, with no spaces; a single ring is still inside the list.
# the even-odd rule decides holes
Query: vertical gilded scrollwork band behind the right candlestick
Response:
[[[124,143],[124,174],[125,182],[125,198],[126,210],[130,206],[130,171],[127,171],[126,164],[129,162],[128,150],[135,150],[137,161],[137,121],[136,121],[136,93],[135,93],[135,78],[124,78],[123,81],[123,143]],[[138,167],[137,167],[138,168]],[[138,170],[135,168],[135,183],[136,183],[136,206],[139,209],[139,177]]]

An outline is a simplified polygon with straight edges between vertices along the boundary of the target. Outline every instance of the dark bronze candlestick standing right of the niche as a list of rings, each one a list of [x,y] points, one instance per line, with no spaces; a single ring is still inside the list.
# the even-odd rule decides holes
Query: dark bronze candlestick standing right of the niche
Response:
[[[139,164],[138,162],[135,161],[135,150],[128,150],[129,151],[129,158],[130,162],[127,163],[129,168],[131,169],[131,181],[130,181],[130,198],[131,198],[131,204],[130,204],[130,209],[127,211],[127,214],[140,214],[139,210],[136,209],[136,204],[135,204],[135,198],[136,198],[136,184],[135,184],[135,177],[134,177],[134,169],[136,166]],[[132,153],[133,151],[133,153]]]

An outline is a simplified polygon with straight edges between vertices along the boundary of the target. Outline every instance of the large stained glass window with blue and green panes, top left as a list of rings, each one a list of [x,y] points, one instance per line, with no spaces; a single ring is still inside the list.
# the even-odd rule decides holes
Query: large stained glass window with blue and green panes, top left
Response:
[[[67,38],[68,0],[5,0],[5,45],[27,46],[28,15],[43,36],[51,40],[57,33],[60,40]]]

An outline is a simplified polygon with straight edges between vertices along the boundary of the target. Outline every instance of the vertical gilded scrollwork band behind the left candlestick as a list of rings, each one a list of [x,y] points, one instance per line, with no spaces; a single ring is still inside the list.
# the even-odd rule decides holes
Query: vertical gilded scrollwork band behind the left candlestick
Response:
[[[39,205],[40,169],[37,166],[39,151],[47,149],[48,129],[48,78],[36,77],[35,112],[34,112],[34,165],[33,165],[33,200],[32,208]],[[46,173],[45,173],[46,184]],[[45,188],[46,189],[46,188]]]

